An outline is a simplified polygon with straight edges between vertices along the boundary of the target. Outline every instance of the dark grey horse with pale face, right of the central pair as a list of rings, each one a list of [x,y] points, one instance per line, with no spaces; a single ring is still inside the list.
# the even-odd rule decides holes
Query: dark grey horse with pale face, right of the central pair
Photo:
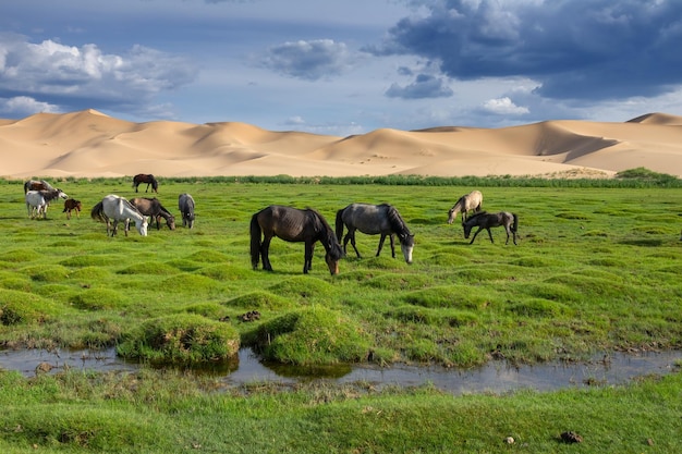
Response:
[[[393,206],[389,204],[351,204],[337,211],[337,240],[339,243],[343,236],[344,225],[348,228],[349,232],[343,238],[343,253],[345,253],[350,241],[351,245],[353,245],[353,249],[355,249],[357,258],[361,257],[357,251],[357,247],[355,246],[355,231],[360,230],[362,233],[367,235],[381,234],[379,248],[377,249],[377,257],[381,251],[383,241],[388,236],[391,242],[391,255],[395,258],[393,235],[397,234],[405,261],[407,263],[412,263],[414,235],[410,232],[410,229],[407,229],[407,225]]]

